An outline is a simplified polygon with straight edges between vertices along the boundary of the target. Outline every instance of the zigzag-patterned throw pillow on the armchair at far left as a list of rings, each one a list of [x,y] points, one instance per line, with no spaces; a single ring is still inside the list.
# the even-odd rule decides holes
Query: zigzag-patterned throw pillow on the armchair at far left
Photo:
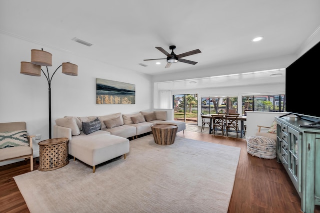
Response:
[[[26,130],[0,132],[0,149],[28,145]]]

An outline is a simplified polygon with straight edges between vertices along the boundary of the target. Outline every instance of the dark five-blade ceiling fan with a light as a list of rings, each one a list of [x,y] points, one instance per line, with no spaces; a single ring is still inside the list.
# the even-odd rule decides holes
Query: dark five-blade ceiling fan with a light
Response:
[[[194,54],[197,54],[197,53],[200,53],[201,51],[199,49],[195,49],[195,50],[192,50],[192,51],[189,51],[189,52],[184,52],[182,54],[174,54],[173,52],[173,49],[175,49],[175,46],[174,45],[171,45],[169,46],[169,49],[171,49],[171,53],[169,54],[167,51],[165,51],[162,47],[155,47],[157,48],[159,51],[161,51],[163,54],[166,55],[166,58],[155,58],[155,59],[144,59],[144,61],[151,61],[151,60],[161,60],[161,59],[166,59],[166,65],[165,65],[165,68],[168,68],[170,67],[171,63],[176,63],[178,61],[180,62],[183,62],[183,63],[188,63],[188,64],[196,64],[197,62],[195,61],[190,61],[190,60],[186,60],[186,59],[183,59],[182,57],[185,57],[185,56],[189,56],[189,55],[194,55]]]

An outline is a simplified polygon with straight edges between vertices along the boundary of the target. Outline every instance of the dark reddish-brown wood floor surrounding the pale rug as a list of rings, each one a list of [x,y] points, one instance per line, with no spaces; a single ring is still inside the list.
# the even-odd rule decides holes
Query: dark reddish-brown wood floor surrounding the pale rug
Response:
[[[189,131],[177,135],[241,148],[228,213],[301,213],[300,198],[282,165],[248,155],[244,139]],[[0,213],[29,212],[12,178],[29,171],[28,161],[0,167]],[[314,213],[320,213],[320,206]]]

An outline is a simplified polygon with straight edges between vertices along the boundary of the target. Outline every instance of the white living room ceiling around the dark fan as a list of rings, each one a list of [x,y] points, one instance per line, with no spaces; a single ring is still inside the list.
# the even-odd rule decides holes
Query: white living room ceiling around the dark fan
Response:
[[[1,0],[0,32],[156,75],[296,54],[318,30],[319,8],[319,0]],[[198,63],[143,61],[164,58],[154,47],[169,45],[175,54],[200,49],[184,57]]]

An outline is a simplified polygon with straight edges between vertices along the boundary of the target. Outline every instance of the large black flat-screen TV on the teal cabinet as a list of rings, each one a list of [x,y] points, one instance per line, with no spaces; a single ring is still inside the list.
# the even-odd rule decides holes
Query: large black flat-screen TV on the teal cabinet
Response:
[[[285,69],[285,111],[320,119],[320,42]]]

